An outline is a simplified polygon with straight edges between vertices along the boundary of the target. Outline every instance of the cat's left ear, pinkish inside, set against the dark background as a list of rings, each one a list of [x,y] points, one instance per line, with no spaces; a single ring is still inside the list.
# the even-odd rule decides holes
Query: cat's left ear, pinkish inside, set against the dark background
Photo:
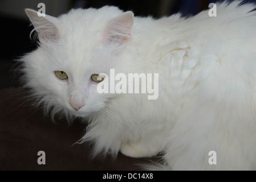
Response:
[[[38,32],[40,42],[55,42],[59,38],[57,18],[50,15],[39,16],[37,11],[31,9],[25,9],[25,12]]]

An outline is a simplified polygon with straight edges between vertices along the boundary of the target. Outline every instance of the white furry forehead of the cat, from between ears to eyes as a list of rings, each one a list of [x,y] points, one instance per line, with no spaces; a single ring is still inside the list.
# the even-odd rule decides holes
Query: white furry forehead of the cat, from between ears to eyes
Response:
[[[54,52],[61,52],[56,67],[82,77],[93,69],[100,72],[107,67],[105,55],[108,51],[100,47],[105,27],[123,11],[117,7],[101,9],[76,9],[59,17],[60,40]],[[58,50],[58,51],[56,51]]]

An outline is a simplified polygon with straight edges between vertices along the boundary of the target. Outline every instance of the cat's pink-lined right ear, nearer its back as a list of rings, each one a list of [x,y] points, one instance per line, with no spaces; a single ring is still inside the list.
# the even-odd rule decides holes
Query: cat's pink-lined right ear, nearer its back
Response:
[[[128,11],[111,20],[103,33],[103,43],[125,46],[131,39],[133,17]]]

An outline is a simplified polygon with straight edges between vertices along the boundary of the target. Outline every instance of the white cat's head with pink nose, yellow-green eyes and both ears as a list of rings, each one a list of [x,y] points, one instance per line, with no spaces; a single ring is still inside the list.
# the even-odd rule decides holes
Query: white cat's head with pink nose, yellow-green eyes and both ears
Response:
[[[26,14],[39,39],[22,59],[26,86],[54,113],[84,117],[103,109],[113,96],[97,93],[95,75],[118,67],[131,40],[133,13],[107,6],[58,18],[31,9]]]

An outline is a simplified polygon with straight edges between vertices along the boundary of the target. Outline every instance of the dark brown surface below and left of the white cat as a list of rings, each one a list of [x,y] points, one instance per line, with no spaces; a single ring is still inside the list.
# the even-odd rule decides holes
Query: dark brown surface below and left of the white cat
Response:
[[[135,170],[145,162],[121,154],[92,159],[90,144],[74,144],[86,126],[52,123],[27,101],[26,90],[0,83],[7,86],[0,89],[0,170]],[[37,163],[38,151],[46,152],[46,165]]]

